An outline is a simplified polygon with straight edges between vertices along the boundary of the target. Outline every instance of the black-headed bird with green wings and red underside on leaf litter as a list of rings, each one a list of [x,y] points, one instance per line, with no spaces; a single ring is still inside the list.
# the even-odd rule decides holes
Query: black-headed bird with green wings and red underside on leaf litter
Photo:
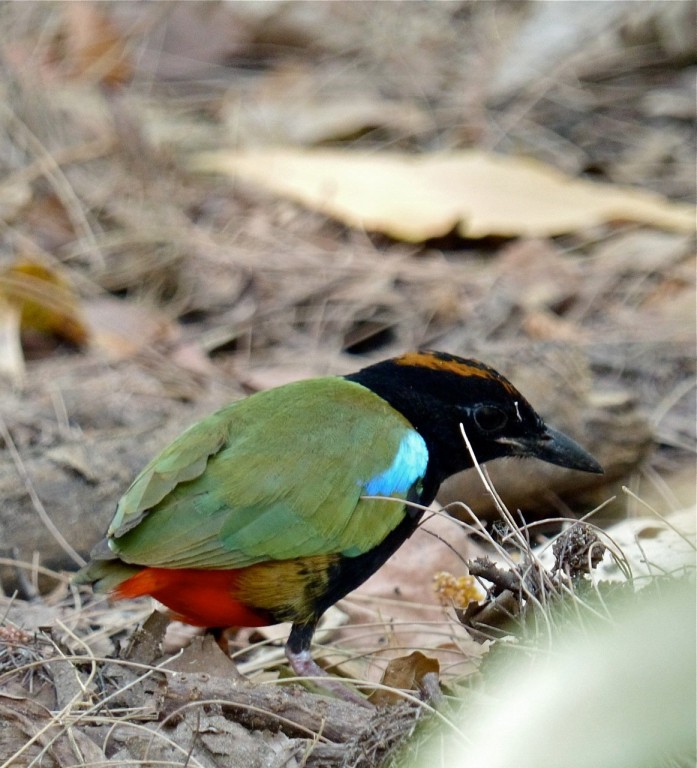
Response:
[[[417,529],[440,484],[478,463],[535,457],[601,473],[486,364],[406,352],[345,376],[256,392],[204,417],[119,500],[75,581],[151,596],[211,631],[291,622],[298,676],[324,677],[322,614]]]

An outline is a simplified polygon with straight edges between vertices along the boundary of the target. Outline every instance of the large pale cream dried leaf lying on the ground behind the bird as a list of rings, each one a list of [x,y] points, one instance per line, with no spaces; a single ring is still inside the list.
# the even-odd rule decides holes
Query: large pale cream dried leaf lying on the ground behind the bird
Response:
[[[574,179],[529,158],[332,150],[207,152],[192,168],[252,182],[344,223],[419,242],[549,237],[613,221],[691,232],[695,210],[646,190]]]

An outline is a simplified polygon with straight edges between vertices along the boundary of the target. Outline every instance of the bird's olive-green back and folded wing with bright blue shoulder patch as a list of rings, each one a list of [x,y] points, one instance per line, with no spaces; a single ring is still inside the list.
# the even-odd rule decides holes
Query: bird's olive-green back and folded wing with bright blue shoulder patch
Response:
[[[269,390],[198,422],[150,462],[119,502],[110,548],[171,568],[355,556],[402,520],[399,500],[427,459],[411,424],[359,384]]]

